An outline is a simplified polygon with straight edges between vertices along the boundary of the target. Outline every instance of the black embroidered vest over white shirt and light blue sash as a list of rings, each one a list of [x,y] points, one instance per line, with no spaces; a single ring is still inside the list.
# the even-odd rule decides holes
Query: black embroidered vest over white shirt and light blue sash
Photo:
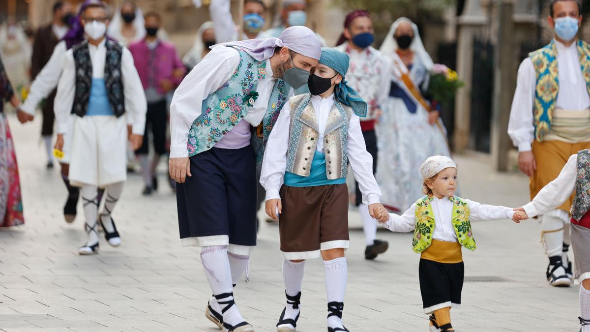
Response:
[[[123,96],[123,79],[121,76],[121,57],[123,47],[113,40],[106,40],[106,63],[104,64],[104,85],[107,89],[109,104],[114,115],[119,118],[125,113],[125,100]],[[92,61],[88,41],[72,47],[74,63],[76,64],[76,93],[72,114],[86,115],[90,101],[90,89],[92,87]]]

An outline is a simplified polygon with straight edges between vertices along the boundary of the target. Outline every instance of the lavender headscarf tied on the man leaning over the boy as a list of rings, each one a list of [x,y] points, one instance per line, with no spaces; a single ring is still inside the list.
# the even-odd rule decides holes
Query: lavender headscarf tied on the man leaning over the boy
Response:
[[[286,28],[278,38],[230,41],[228,43],[213,45],[211,48],[219,45],[240,47],[258,61],[266,60],[273,56],[274,48],[276,47],[287,47],[289,50],[299,53],[302,56],[316,60],[320,60],[322,56],[322,44],[317,39],[315,32],[303,26]]]

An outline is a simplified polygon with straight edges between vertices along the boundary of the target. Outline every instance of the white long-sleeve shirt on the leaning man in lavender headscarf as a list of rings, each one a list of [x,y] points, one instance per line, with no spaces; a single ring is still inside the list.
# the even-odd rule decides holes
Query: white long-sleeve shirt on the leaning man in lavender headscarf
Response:
[[[244,121],[253,126],[260,124],[268,108],[268,100],[273,93],[273,70],[270,61],[266,60],[266,77],[258,80],[258,99]],[[225,82],[231,79],[240,64],[240,53],[232,47],[218,46],[213,48],[182,80],[172,97],[170,106],[170,157],[188,157],[186,142],[192,123],[202,113],[203,100],[217,91]],[[292,90],[290,95],[292,95]]]

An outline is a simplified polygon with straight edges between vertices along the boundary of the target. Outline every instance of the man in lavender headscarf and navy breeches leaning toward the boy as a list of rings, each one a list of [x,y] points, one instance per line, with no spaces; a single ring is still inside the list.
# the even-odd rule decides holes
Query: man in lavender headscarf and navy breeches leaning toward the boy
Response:
[[[307,82],[320,52],[306,27],[220,44],[172,99],[169,170],[178,182],[182,245],[202,247],[214,295],[206,315],[226,331],[254,330],[235,305],[232,285],[256,245],[256,162],[291,87]]]

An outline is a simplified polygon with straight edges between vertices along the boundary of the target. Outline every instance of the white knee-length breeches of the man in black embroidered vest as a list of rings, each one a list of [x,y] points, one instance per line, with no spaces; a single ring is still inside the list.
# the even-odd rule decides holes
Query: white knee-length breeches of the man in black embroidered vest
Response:
[[[104,187],[127,179],[127,123],[124,116],[76,116],[73,133],[71,185]]]

